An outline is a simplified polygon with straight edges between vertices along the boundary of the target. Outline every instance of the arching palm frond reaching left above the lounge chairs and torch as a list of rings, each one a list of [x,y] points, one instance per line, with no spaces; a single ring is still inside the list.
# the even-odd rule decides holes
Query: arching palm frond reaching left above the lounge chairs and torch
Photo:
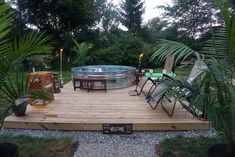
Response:
[[[164,62],[168,55],[175,56],[175,63],[184,61],[191,55],[200,60],[200,55],[198,52],[184,44],[169,40],[160,40],[153,51],[154,52],[150,58],[150,61],[157,61],[160,63]]]

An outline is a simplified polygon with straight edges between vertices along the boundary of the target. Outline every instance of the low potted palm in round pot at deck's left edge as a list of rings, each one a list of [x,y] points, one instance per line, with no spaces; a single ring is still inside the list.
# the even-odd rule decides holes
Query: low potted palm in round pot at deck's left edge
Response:
[[[28,74],[21,72],[12,72],[15,75],[7,76],[5,82],[1,86],[2,95],[0,98],[5,100],[6,103],[9,103],[10,106],[5,112],[12,109],[13,113],[16,116],[24,116],[27,105],[30,101],[34,101],[35,99],[44,99],[51,101],[53,99],[53,95],[46,89],[29,89],[29,80]],[[21,76],[19,76],[21,75]]]

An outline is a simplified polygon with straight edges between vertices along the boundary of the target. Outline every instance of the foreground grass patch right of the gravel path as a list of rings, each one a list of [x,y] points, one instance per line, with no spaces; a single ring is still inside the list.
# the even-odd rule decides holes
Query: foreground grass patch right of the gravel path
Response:
[[[208,148],[224,141],[223,137],[176,137],[159,144],[161,157],[207,157]]]

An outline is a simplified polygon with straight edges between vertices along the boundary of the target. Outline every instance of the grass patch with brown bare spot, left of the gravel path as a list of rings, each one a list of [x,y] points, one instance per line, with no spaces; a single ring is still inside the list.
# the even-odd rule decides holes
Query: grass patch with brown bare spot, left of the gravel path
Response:
[[[77,147],[71,138],[0,136],[3,142],[17,144],[20,157],[72,157]]]

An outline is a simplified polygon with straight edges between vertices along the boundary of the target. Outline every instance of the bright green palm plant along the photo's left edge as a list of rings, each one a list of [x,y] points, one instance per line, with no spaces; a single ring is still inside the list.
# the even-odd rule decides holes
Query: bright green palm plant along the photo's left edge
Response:
[[[38,32],[28,33],[20,39],[11,39],[8,33],[11,31],[12,12],[10,4],[0,0],[0,110],[1,122],[11,108],[11,104],[18,98],[29,94],[27,75],[16,74],[16,64],[28,56],[34,54],[49,53],[52,46],[50,37]],[[13,77],[15,75],[15,77]],[[39,97],[41,94],[31,94]]]

